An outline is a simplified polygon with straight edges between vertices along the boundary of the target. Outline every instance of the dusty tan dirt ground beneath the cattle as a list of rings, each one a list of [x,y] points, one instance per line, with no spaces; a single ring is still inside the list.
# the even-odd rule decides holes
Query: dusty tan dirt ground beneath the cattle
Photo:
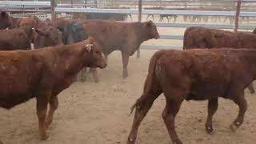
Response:
[[[180,35],[185,29],[160,28],[160,34]],[[181,45],[180,41],[150,40],[146,45]],[[38,136],[35,99],[14,107],[0,109],[0,140],[5,144],[118,144],[125,143],[133,115],[130,106],[142,94],[150,57],[156,50],[142,50],[141,58],[130,57],[129,77],[122,79],[121,53],[110,54],[109,66],[99,70],[100,82],[75,82],[58,95],[59,108],[50,126],[50,140]],[[219,99],[214,115],[214,134],[206,134],[207,102],[183,102],[176,118],[179,137],[186,144],[253,144],[256,142],[256,95],[248,93],[248,110],[244,124],[236,133],[229,126],[238,114],[238,106]],[[162,120],[165,98],[161,95],[142,122],[138,139],[141,144],[169,144]]]

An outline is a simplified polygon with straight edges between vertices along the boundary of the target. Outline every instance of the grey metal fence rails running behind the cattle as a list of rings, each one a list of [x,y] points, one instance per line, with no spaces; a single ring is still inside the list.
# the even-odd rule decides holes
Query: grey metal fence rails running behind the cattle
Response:
[[[104,2],[103,0],[98,0],[98,2]],[[111,1],[110,1],[111,2]],[[127,0],[127,1],[118,1],[114,0],[113,2],[138,2],[138,0]],[[145,0],[143,2],[159,2],[154,0]],[[190,2],[188,0],[183,1],[162,1],[162,2]],[[200,1],[200,2],[223,2],[220,0],[211,0],[211,1]],[[235,2],[235,1],[224,1],[224,2]],[[253,0],[243,0],[243,3],[256,3]],[[27,1],[0,1],[1,6],[15,7],[26,6],[29,7],[50,7],[50,2],[27,2]],[[70,8],[69,6],[84,6],[84,4],[58,4],[55,8],[56,13],[110,13],[110,14],[138,14],[137,9],[96,9],[96,8]],[[207,10],[142,10],[142,14],[172,14],[172,15],[183,15],[183,16],[227,16],[234,17],[234,11],[207,11]],[[256,18],[256,12],[241,12],[240,17],[254,17]],[[219,24],[198,24],[198,23],[162,23],[156,22],[158,27],[181,27],[186,28],[189,26],[204,26],[214,29],[234,29],[234,25],[219,25]],[[240,30],[254,30],[255,26],[239,26]],[[173,40],[182,40],[183,35],[161,35],[160,39],[173,39]],[[177,49],[181,48],[178,46],[141,46],[142,49]]]

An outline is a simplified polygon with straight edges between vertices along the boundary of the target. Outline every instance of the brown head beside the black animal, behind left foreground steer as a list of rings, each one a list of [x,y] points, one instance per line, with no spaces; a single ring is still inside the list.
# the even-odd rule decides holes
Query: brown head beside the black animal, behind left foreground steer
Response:
[[[62,33],[54,26],[34,29],[34,48],[62,45]]]

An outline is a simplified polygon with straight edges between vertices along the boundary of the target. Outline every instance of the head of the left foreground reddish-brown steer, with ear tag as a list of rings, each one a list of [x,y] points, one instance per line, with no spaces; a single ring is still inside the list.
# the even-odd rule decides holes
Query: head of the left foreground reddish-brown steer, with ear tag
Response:
[[[98,47],[98,45],[94,42],[93,38],[88,38],[84,41],[85,46],[83,47],[85,51],[86,58],[86,67],[100,67],[105,68],[106,60],[103,57],[102,50]]]

